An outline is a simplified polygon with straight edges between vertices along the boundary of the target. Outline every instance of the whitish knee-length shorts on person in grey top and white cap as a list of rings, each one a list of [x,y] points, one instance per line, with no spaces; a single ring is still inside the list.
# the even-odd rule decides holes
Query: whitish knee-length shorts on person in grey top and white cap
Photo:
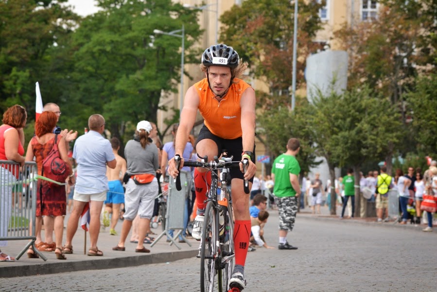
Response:
[[[151,219],[155,198],[158,194],[158,181],[153,179],[151,183],[135,184],[134,180],[129,179],[126,183],[126,193],[124,194],[124,219],[133,221],[137,214],[140,218]]]

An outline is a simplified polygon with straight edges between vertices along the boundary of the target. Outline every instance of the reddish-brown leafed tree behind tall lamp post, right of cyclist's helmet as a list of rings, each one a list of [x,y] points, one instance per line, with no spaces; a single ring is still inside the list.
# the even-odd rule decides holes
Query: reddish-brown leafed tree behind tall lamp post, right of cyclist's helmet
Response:
[[[318,45],[323,3],[299,1],[297,82],[303,81],[305,59]],[[270,93],[287,90],[292,81],[294,5],[289,0],[246,0],[224,14],[220,39],[249,61],[251,73],[262,78]]]

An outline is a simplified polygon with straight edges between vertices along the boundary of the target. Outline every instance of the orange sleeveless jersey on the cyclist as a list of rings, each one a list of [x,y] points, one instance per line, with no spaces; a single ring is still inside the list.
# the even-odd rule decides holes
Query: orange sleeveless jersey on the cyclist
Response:
[[[193,85],[199,94],[199,111],[205,119],[205,126],[211,133],[223,139],[236,139],[243,135],[240,100],[250,85],[238,78],[234,80],[237,83],[231,85],[220,103],[214,98],[207,78]]]

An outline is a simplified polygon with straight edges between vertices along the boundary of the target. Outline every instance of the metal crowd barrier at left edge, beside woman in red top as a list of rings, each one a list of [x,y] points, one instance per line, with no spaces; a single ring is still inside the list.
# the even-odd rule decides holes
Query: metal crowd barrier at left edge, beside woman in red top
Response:
[[[0,247],[9,240],[29,240],[15,257],[18,260],[30,246],[35,248],[36,180],[35,162],[20,167],[14,161],[0,160]]]

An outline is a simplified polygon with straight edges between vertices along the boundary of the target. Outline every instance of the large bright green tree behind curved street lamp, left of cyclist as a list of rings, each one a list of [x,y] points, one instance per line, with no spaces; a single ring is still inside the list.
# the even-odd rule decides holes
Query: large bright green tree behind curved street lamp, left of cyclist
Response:
[[[170,32],[184,25],[190,60],[190,48],[201,34],[198,11],[171,0],[99,0],[98,5],[102,10],[85,18],[74,34],[77,91],[71,99],[103,113],[112,135],[123,138],[126,127],[157,120],[161,95],[175,91],[180,77],[181,38],[154,30]]]

